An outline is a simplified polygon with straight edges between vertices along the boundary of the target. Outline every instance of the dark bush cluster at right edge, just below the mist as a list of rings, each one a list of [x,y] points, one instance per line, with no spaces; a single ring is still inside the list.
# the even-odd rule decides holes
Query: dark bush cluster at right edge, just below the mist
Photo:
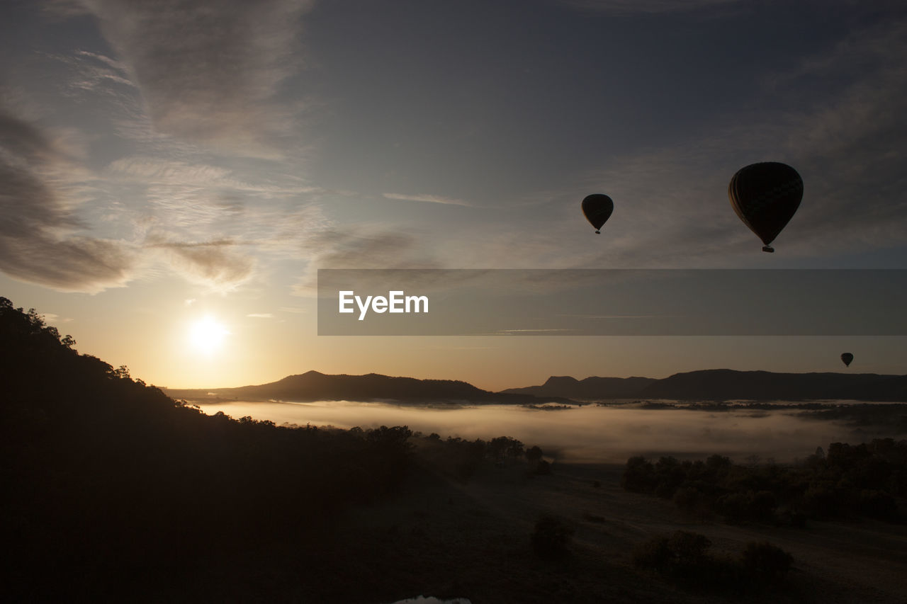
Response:
[[[791,466],[739,465],[721,455],[704,462],[661,457],[656,463],[636,456],[627,461],[621,485],[731,523],[802,525],[861,515],[898,522],[898,498],[907,495],[907,442],[832,443],[827,455],[819,448]]]

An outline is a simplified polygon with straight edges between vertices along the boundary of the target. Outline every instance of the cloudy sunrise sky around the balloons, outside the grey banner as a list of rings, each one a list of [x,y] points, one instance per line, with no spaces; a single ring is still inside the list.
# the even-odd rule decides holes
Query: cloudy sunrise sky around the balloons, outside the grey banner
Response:
[[[903,336],[318,336],[316,297],[318,268],[907,268],[902,2],[0,11],[0,296],[148,383],[907,373]],[[757,161],[805,183],[775,254],[727,199]]]

